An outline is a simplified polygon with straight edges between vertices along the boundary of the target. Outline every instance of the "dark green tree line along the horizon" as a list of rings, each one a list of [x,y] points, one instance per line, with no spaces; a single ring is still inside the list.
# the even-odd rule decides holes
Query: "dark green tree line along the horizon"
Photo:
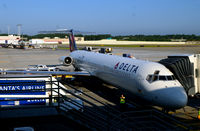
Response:
[[[6,36],[7,34],[0,34],[0,36]],[[68,34],[37,34],[37,35],[23,35],[22,37],[30,39],[35,38],[66,38]],[[110,34],[99,34],[99,35],[82,35],[76,34],[76,37],[84,37],[85,40],[102,40],[102,39],[116,39],[122,41],[171,41],[174,40],[186,40],[186,41],[200,41],[200,36],[198,35],[184,35],[184,34],[175,34],[175,35],[127,35],[127,36],[112,36]]]

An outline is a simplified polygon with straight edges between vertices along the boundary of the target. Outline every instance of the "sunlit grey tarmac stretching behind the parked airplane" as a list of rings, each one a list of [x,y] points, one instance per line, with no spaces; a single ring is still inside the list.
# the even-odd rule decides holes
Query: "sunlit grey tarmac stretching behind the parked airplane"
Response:
[[[61,49],[10,49],[0,48],[0,68],[26,68],[28,65],[59,64],[60,56],[68,56],[69,50]],[[190,47],[135,47],[113,48],[113,54],[131,54],[137,59],[158,61],[172,54],[197,54],[200,46]]]

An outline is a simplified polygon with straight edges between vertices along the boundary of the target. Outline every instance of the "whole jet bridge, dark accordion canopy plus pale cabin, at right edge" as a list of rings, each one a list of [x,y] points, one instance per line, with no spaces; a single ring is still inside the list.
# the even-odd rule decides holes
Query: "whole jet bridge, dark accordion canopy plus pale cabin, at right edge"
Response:
[[[200,54],[171,55],[159,63],[167,67],[190,96],[200,93]]]

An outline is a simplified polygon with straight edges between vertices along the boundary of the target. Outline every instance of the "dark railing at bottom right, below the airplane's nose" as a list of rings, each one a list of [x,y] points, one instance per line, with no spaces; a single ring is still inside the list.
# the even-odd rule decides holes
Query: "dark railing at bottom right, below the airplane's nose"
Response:
[[[129,121],[127,123],[127,121]],[[124,112],[112,119],[110,129],[116,128],[134,128],[137,130],[145,129],[163,129],[163,130],[189,130],[190,127],[175,118],[163,114],[157,110],[142,110]]]

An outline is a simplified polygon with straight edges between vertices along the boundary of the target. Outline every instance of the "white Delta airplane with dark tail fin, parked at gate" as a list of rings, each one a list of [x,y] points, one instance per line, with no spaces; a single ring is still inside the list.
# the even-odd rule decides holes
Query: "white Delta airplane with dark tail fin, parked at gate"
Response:
[[[164,65],[117,55],[78,50],[73,30],[69,32],[70,55],[62,56],[60,61],[65,66],[73,65],[79,71],[21,72],[95,76],[166,110],[176,110],[186,106],[188,97],[183,86]],[[12,73],[15,72],[12,71]]]

